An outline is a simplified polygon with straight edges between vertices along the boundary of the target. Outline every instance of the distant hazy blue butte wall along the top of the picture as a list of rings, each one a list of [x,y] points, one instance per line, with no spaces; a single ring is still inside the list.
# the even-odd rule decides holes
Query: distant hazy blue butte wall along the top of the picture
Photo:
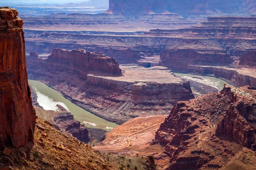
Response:
[[[253,0],[109,0],[105,13],[122,15],[180,14],[184,17],[196,15],[253,14]]]

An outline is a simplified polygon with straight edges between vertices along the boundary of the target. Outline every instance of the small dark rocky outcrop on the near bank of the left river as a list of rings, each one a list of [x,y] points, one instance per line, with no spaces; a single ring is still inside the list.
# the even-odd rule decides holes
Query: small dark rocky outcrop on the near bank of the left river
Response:
[[[69,112],[57,113],[54,117],[54,122],[61,132],[68,133],[79,139],[81,142],[88,142],[88,130],[84,125],[81,125],[77,119]]]

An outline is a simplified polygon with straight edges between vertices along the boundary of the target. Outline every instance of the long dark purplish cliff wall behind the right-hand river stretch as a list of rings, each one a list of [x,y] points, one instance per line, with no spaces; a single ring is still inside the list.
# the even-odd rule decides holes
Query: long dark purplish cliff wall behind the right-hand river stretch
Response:
[[[160,65],[229,65],[230,54],[224,50],[166,49],[160,53]]]

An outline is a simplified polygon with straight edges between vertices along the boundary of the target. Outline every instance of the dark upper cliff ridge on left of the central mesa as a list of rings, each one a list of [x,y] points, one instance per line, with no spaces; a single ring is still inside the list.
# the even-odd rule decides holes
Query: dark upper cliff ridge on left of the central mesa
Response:
[[[78,50],[54,49],[48,59],[40,59],[31,52],[27,58],[29,68],[42,68],[49,71],[65,71],[86,79],[89,72],[107,75],[122,75],[118,62],[102,53]]]

